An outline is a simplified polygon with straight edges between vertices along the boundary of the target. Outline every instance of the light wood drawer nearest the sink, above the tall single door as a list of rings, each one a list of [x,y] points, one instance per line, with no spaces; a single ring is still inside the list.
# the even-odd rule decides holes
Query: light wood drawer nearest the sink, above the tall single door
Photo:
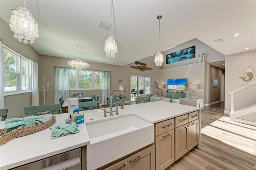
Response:
[[[174,129],[174,118],[155,124],[155,136]]]

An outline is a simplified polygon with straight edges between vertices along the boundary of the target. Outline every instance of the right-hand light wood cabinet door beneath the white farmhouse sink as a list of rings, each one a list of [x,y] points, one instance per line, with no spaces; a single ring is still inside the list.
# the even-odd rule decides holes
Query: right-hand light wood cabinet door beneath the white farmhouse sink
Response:
[[[127,158],[127,170],[154,170],[155,145],[133,154]]]

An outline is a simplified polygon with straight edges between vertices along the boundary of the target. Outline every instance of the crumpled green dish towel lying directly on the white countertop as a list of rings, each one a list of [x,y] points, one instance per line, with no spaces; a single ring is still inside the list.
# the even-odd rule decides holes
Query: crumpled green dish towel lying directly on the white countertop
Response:
[[[71,122],[70,124],[60,123],[58,125],[53,125],[50,127],[52,130],[52,139],[56,139],[60,136],[66,136],[68,134],[75,134],[80,132],[80,129],[77,128],[79,124]]]

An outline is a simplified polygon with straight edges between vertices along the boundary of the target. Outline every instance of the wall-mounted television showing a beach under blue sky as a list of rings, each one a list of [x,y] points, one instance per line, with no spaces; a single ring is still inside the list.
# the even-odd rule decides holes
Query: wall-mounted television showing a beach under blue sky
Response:
[[[168,79],[168,90],[187,90],[187,79]]]

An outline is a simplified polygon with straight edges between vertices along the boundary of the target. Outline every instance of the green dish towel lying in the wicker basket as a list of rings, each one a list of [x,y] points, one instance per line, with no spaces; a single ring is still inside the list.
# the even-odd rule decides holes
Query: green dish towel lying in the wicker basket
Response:
[[[35,117],[35,116],[27,116],[24,118],[12,118],[6,119],[4,121],[4,126],[6,128],[5,132],[10,132],[13,129],[18,129],[22,127],[28,127],[34,124],[40,124],[46,122],[44,117]]]

